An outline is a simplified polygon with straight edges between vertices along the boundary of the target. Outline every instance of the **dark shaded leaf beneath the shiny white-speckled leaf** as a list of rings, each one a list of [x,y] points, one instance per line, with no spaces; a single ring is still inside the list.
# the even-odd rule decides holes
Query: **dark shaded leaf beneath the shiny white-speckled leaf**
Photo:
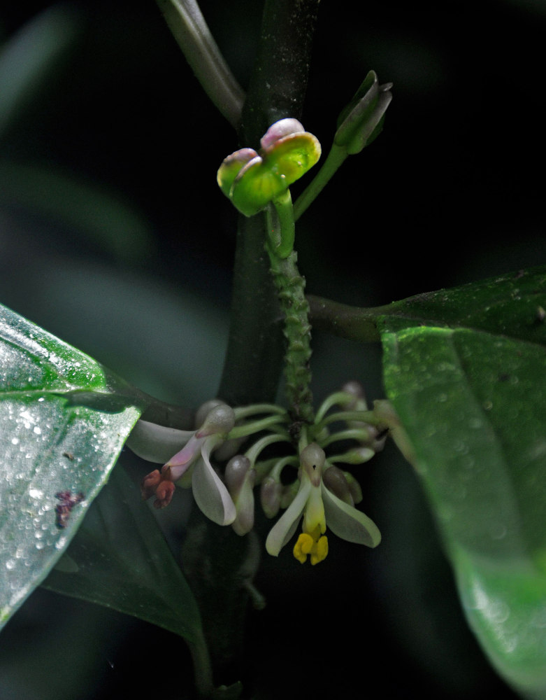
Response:
[[[140,491],[119,465],[44,586],[189,641],[201,633],[192,591]]]

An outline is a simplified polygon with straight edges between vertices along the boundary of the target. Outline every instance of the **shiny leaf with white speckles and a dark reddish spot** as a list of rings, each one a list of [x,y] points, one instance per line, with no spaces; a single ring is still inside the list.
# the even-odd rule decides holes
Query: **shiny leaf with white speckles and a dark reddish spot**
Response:
[[[0,627],[62,555],[140,414],[122,380],[0,307]]]

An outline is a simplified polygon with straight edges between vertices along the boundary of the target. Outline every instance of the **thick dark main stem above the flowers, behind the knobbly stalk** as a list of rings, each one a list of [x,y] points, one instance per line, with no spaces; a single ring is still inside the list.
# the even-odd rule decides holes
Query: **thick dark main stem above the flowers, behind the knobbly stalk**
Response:
[[[259,51],[240,125],[258,146],[268,127],[298,118],[307,87],[319,0],[266,0]],[[282,372],[282,314],[269,274],[266,216],[239,218],[231,326],[219,395],[232,405],[274,401]]]

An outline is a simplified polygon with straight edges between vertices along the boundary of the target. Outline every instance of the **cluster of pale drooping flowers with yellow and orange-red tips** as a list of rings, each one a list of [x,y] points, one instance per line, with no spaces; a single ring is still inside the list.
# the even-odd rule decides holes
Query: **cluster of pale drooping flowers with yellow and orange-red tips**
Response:
[[[266,540],[273,556],[300,523],[293,552],[301,563],[308,557],[312,564],[325,559],[327,530],[349,542],[379,544],[377,526],[355,507],[362,498],[359,483],[344,468],[367,462],[382,449],[386,435],[356,382],[326,398],[315,421],[300,427],[296,439],[285,409],[269,404],[231,408],[214,400],[199,409],[196,423],[195,430],[182,431],[138,421],[131,433],[127,444],[136,454],[164,462],[142,483],[143,498],[155,497],[155,507],[171,502],[175,484],[191,486],[208,518],[245,535],[254,526],[254,491],[259,489],[266,517],[284,510]],[[251,435],[254,442],[241,452]],[[345,449],[336,453],[336,443]]]

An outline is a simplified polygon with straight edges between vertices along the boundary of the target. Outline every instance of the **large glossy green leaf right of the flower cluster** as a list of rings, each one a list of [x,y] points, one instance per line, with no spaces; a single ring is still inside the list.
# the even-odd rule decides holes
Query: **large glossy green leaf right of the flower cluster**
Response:
[[[466,617],[499,673],[544,698],[546,274],[397,305],[381,323],[385,388]]]

